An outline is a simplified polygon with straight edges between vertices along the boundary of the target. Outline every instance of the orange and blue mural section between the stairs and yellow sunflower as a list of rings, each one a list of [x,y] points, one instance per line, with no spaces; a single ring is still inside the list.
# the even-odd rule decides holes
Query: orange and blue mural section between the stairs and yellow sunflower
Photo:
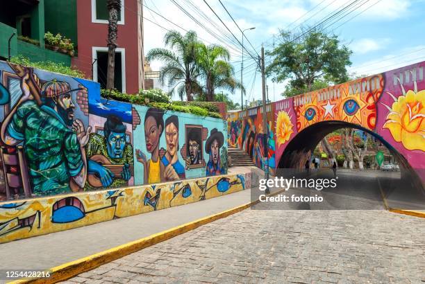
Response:
[[[229,147],[245,150],[258,168],[265,167],[264,135],[269,135],[268,153],[269,170],[274,174],[276,168],[275,150],[276,139],[275,125],[272,123],[274,105],[267,105],[267,133],[263,127],[263,109],[255,107],[243,112],[228,114]]]

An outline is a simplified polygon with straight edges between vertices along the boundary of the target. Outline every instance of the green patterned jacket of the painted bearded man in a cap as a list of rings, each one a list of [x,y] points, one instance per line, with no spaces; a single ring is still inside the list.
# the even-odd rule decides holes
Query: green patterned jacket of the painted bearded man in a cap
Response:
[[[14,139],[23,140],[28,174],[36,195],[71,192],[69,179],[83,168],[80,144],[59,114],[28,100],[8,125]]]

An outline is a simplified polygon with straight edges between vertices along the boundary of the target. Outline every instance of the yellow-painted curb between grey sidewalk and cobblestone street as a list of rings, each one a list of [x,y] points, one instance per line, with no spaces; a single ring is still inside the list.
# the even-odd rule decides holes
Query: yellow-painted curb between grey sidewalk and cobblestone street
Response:
[[[268,196],[277,195],[283,191],[285,191],[285,189],[278,190],[269,194]],[[113,247],[112,249],[101,251],[97,254],[92,254],[91,256],[86,256],[85,258],[80,258],[63,265],[58,265],[49,269],[51,275],[49,278],[23,278],[8,283],[58,283],[59,281],[65,281],[69,278],[72,278],[73,276],[87,272],[106,263],[110,263],[111,261],[127,256],[128,254],[132,254],[135,251],[140,251],[140,249],[151,247],[152,245],[156,245],[159,242],[163,242],[165,240],[169,240],[170,238],[181,235],[182,233],[192,231],[215,220],[226,218],[229,215],[233,215],[257,204],[258,202],[260,201],[256,200],[254,202],[236,206],[226,211],[188,222],[160,233],[155,233],[149,237],[141,238],[140,240],[128,242],[124,245],[119,245],[117,247]]]

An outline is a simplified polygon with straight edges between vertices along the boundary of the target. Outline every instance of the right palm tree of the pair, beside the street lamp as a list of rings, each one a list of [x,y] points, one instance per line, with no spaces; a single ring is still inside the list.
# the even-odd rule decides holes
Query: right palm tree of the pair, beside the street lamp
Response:
[[[233,66],[228,62],[230,53],[223,46],[210,44],[198,45],[198,64],[203,78],[206,80],[206,100],[214,100],[215,89],[235,91],[243,88],[238,80],[233,77]]]

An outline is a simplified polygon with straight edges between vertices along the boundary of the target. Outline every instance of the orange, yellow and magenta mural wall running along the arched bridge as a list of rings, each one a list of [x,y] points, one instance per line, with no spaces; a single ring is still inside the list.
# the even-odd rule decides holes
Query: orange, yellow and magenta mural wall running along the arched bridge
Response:
[[[344,121],[376,132],[407,159],[424,182],[424,69],[425,62],[419,62],[272,103],[268,112],[273,114],[269,121],[273,134],[269,136],[276,143],[275,168],[288,143],[306,127]],[[256,119],[251,109],[229,114],[228,145],[251,152],[247,134],[253,129],[256,133]]]

